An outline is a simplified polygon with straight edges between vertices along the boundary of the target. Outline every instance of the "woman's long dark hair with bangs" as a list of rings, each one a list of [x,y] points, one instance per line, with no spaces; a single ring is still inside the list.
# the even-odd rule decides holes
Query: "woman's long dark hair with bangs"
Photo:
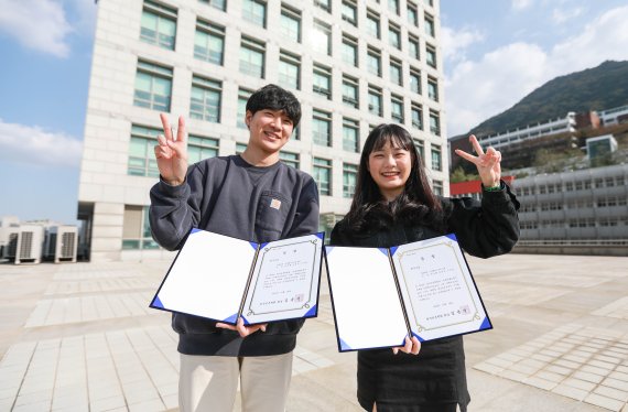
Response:
[[[368,170],[371,152],[381,150],[387,142],[391,147],[409,151],[412,164],[403,193],[390,203],[386,202]],[[345,224],[350,231],[369,232],[396,221],[442,229],[443,207],[430,187],[423,162],[410,133],[399,124],[379,124],[365,142],[356,192],[349,213],[345,216]]]

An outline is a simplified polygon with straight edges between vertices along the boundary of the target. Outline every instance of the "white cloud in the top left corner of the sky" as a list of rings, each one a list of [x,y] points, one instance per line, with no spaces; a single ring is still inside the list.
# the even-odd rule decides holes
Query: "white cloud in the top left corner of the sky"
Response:
[[[0,0],[0,31],[29,48],[57,57],[69,54],[73,29],[63,7],[53,0]]]

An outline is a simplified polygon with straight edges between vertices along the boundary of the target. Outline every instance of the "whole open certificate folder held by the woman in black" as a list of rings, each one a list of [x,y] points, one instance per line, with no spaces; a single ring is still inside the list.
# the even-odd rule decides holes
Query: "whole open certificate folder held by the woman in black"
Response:
[[[492,328],[455,235],[325,249],[340,351]]]

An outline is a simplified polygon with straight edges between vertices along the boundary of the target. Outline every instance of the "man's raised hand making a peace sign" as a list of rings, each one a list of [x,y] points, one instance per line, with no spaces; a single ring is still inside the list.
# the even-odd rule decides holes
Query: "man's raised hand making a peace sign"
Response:
[[[185,119],[178,118],[176,140],[172,135],[172,129],[165,113],[160,115],[164,135],[158,135],[155,144],[155,159],[161,177],[172,186],[178,186],[185,182],[187,174],[187,137],[185,134]]]

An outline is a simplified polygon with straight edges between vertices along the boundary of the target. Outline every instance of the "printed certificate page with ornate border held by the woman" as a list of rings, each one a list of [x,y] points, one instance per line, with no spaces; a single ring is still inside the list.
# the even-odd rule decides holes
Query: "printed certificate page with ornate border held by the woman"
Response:
[[[400,246],[392,260],[410,326],[421,339],[491,327],[453,236]]]

